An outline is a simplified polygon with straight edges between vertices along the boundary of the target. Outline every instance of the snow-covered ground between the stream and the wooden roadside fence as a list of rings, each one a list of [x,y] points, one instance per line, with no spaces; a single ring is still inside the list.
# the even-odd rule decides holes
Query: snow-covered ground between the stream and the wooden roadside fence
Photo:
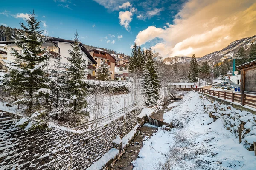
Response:
[[[179,106],[164,114],[164,121],[177,128],[158,129],[145,139],[139,158],[133,162],[134,170],[161,170],[162,166],[175,170],[255,170],[254,152],[239,144],[224,127],[223,119],[209,117],[203,103],[213,104],[199,95],[191,91]]]

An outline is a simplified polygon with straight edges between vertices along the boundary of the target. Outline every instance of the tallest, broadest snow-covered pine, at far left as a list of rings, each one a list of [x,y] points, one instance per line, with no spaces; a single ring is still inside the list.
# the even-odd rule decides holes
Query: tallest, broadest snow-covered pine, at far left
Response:
[[[24,92],[17,103],[26,103],[28,112],[32,111],[38,99],[37,95],[40,91],[47,91],[47,79],[45,77],[44,67],[47,65],[49,54],[46,48],[41,49],[41,45],[46,38],[41,37],[43,30],[40,30],[40,22],[35,18],[35,13],[29,14],[29,19],[26,20],[28,27],[23,23],[20,26],[23,28],[24,34],[19,30],[15,37],[15,44],[21,49],[21,54],[11,48],[11,54],[15,57],[15,64],[7,63],[6,67],[10,70],[10,84],[18,85]],[[17,37],[17,39],[16,39]]]

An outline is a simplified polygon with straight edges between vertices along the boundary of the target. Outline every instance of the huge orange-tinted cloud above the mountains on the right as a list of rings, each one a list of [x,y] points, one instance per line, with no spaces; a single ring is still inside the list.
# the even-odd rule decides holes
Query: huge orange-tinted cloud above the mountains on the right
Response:
[[[143,45],[154,38],[163,41],[152,46],[163,57],[188,55],[202,57],[218,51],[234,40],[255,35],[255,0],[230,3],[224,0],[189,0],[164,28],[149,26],[135,42]],[[151,13],[157,14],[157,13]]]

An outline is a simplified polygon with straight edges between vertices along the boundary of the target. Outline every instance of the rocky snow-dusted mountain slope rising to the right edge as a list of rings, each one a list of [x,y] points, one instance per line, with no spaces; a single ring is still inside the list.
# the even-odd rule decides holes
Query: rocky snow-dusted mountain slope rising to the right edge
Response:
[[[223,48],[220,51],[215,51],[201,58],[198,58],[198,62],[200,61],[217,62],[218,60],[223,61],[224,59],[233,57],[240,47],[244,47],[245,51],[247,51],[253,42],[256,42],[256,35],[254,35],[253,37],[242,38],[240,40],[233,41],[230,43],[230,45],[228,45],[227,47]]]

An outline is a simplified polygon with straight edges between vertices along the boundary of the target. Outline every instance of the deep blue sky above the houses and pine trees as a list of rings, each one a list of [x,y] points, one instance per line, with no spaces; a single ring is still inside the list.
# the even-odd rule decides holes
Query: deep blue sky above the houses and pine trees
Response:
[[[11,2],[11,3],[10,3]],[[164,28],[185,1],[180,0],[1,0],[0,24],[20,28],[26,14],[35,10],[41,28],[49,36],[81,42],[131,54],[137,34],[155,26]],[[153,46],[161,38],[145,42]]]

